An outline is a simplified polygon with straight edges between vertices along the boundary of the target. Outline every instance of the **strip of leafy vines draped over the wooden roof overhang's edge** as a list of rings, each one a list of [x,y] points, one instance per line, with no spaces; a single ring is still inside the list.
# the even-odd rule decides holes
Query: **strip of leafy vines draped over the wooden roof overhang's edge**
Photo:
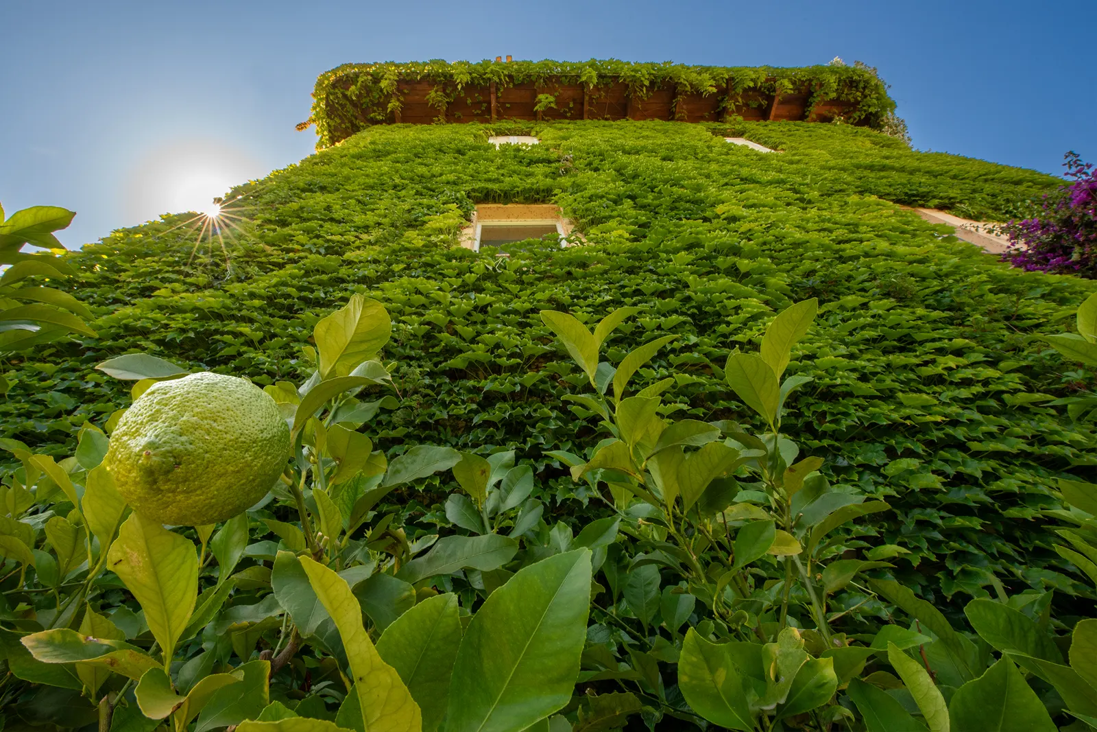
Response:
[[[589,61],[409,61],[376,64],[343,64],[325,71],[316,79],[313,91],[313,110],[308,122],[316,125],[318,148],[333,145],[369,124],[385,122],[394,109],[399,109],[402,97],[397,82],[431,81],[436,92],[428,102],[442,110],[450,95],[465,88],[499,88],[516,83],[547,85],[565,81],[604,87],[614,82],[627,85],[636,99],[646,99],[651,92],[674,83],[678,93],[731,94],[725,104],[753,92],[774,93],[807,90],[807,116],[823,102],[849,102],[853,109],[846,122],[861,122],[880,128],[885,117],[895,111],[895,102],[887,95],[886,85],[874,69],[864,66],[808,66],[781,68],[772,66],[688,66],[621,61],[617,59]]]

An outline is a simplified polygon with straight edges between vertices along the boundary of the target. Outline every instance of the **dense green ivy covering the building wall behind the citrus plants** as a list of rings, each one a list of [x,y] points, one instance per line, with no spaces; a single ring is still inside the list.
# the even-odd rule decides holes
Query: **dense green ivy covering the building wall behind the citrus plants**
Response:
[[[362,292],[394,318],[385,358],[400,399],[382,405],[375,441],[391,454],[405,441],[517,448],[569,520],[585,488],[543,453],[592,448],[593,430],[562,402],[586,378],[540,309],[597,320],[644,307],[610,359],[677,334],[638,376],[674,367],[686,374],[679,416],[749,423],[721,367],[755,350],[772,312],[814,296],[821,314],[791,370],[815,382],[787,427],[835,482],[895,507],[872,531],[911,550],[898,577],[930,597],[985,595],[997,581],[1081,592],[1036,517],[1055,504],[1052,476],[1093,463],[1093,436],[1047,406],[1088,376],[1033,336],[1072,329],[1097,285],[1011,270],[897,205],[1004,216],[1054,179],[846,125],[511,124],[495,132],[542,144],[500,150],[488,132],[375,127],[233,191],[247,223],[227,275],[216,245],[188,263],[194,234],[172,228],[182,216],[84,247],[71,259],[100,338],[13,365],[0,432],[71,449],[73,427],[126,403],[92,367],[128,350],[263,384],[299,378],[316,320]],[[728,132],[784,153],[728,145]],[[509,260],[455,248],[482,201],[556,202],[589,245]]]

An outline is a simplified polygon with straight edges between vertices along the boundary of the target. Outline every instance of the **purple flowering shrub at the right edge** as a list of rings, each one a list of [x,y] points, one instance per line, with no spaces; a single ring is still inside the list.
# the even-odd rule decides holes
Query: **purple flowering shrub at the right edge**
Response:
[[[1036,216],[1007,224],[1015,248],[1004,257],[1029,271],[1097,279],[1097,170],[1073,151],[1063,165],[1073,182],[1045,194]]]

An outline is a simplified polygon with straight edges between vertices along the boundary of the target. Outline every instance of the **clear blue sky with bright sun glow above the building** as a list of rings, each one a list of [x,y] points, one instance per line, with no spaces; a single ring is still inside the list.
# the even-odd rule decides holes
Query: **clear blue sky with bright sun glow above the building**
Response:
[[[293,126],[347,61],[841,56],[880,69],[919,149],[1097,162],[1092,0],[34,0],[0,3],[0,203],[77,211],[70,248],[310,154]]]

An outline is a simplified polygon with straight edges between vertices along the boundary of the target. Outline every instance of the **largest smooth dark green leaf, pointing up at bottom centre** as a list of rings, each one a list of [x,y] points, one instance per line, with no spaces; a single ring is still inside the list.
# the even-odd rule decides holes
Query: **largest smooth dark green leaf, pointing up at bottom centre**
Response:
[[[590,608],[590,550],[519,571],[473,616],[453,666],[445,729],[523,730],[566,706]]]

